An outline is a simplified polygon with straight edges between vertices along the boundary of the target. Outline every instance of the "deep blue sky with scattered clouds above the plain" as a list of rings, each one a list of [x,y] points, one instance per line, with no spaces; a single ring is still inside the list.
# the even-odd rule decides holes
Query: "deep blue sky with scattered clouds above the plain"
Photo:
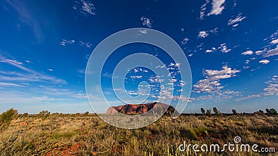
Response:
[[[213,106],[222,112],[278,109],[278,1],[4,0],[0,4],[0,112],[10,107],[21,113],[92,112],[84,80],[90,54],[109,35],[138,27],[169,35],[187,56],[193,92],[185,112]],[[158,55],[168,68],[177,67],[157,47],[123,46],[102,71],[106,95],[113,92],[111,67],[138,52]],[[142,79],[155,83],[152,71],[146,71],[138,67],[126,76],[130,95],[139,94]],[[173,81],[176,95],[183,81]],[[151,89],[151,96],[156,90]]]

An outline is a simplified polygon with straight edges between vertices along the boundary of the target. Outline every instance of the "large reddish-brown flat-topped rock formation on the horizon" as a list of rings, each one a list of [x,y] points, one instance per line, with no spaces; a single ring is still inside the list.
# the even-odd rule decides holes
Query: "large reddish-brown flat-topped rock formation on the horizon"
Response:
[[[175,112],[174,107],[172,105],[167,105],[164,103],[145,103],[145,104],[126,104],[119,106],[109,107],[107,110],[107,114],[116,114],[117,112],[123,114],[145,114],[149,111],[152,112],[165,112],[167,114],[173,114]]]

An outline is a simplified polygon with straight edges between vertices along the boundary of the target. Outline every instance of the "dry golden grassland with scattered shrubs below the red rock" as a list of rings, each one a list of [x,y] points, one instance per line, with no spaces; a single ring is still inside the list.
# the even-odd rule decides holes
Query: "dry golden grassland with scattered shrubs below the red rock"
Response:
[[[270,109],[271,110],[271,109]],[[163,116],[145,128],[115,128],[96,114],[17,114],[0,119],[0,155],[277,155],[254,152],[179,151],[179,144],[227,144],[240,136],[243,144],[278,151],[278,116],[266,113],[222,114],[213,108],[202,114]]]

